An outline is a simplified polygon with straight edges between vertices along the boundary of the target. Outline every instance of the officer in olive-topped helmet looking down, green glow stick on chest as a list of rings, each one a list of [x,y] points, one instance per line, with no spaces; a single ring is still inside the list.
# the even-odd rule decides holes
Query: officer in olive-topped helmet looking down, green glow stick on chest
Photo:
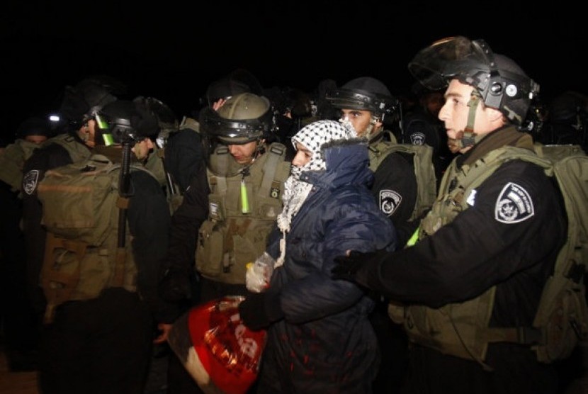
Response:
[[[172,218],[168,266],[160,285],[164,298],[185,310],[194,302],[247,295],[246,264],[265,251],[290,173],[285,147],[270,140],[266,97],[236,94],[217,111],[203,108],[199,120],[205,166],[191,178]],[[196,290],[190,282],[194,270]],[[168,393],[200,393],[174,357]]]

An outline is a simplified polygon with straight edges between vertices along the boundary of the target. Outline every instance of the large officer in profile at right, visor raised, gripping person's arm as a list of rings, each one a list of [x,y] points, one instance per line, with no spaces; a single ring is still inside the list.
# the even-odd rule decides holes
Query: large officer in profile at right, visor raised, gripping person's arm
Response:
[[[538,84],[484,40],[465,37],[424,48],[409,70],[430,89],[446,86],[439,118],[462,154],[414,246],[351,252],[334,275],[395,303],[390,316],[412,342],[403,393],[560,393],[555,366],[502,331],[533,324],[566,233],[555,184],[521,159],[534,154],[518,126]]]

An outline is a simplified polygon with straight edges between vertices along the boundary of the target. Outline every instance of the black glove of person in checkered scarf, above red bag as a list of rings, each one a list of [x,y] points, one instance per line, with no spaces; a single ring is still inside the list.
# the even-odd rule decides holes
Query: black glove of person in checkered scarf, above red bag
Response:
[[[283,312],[280,296],[276,293],[249,293],[239,304],[239,316],[249,329],[258,331],[280,320]]]

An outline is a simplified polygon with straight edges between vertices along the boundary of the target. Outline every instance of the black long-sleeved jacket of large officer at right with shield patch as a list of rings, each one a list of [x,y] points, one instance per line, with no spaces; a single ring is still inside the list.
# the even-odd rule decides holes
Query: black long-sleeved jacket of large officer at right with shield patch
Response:
[[[457,157],[458,164],[499,147],[504,132],[507,129],[485,137]],[[524,218],[507,223],[501,220],[500,209],[513,186],[532,209]],[[565,239],[567,221],[560,192],[540,167],[511,160],[469,198],[473,198],[470,208],[414,247],[364,261],[356,281],[392,300],[431,308],[460,303],[496,286],[490,326],[531,325]],[[493,373],[426,347],[411,354],[419,368],[409,383],[421,390],[426,386],[424,392],[553,392],[553,366],[539,364],[529,347],[490,344],[486,363]],[[468,379],[456,378],[456,373]]]

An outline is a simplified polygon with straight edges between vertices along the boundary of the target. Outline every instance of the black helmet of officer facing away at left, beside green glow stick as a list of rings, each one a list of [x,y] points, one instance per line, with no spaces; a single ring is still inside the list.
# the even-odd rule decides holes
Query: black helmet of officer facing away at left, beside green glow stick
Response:
[[[117,100],[96,114],[96,145],[113,145],[157,137],[159,122],[143,101]]]

